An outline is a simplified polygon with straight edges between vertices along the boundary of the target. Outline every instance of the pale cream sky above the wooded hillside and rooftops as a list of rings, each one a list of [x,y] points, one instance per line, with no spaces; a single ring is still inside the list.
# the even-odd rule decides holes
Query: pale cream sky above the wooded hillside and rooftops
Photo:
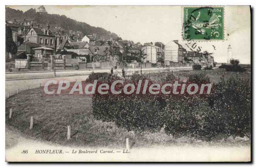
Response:
[[[39,6],[8,6],[27,11]],[[50,14],[66,15],[89,25],[102,27],[122,39],[140,42],[182,41],[181,6],[44,6]],[[251,63],[251,16],[249,6],[225,6],[223,41],[201,41],[196,46],[213,53],[215,62],[227,62],[228,45],[232,57],[240,63]],[[228,34],[228,35],[227,35]],[[192,43],[194,44],[194,43]],[[189,44],[190,46],[192,44]],[[194,45],[194,46],[195,46]],[[214,45],[214,47],[212,46]]]

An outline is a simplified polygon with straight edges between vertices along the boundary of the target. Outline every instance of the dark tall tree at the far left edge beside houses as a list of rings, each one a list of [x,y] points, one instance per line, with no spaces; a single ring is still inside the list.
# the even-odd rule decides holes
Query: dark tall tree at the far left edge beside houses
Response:
[[[10,27],[6,27],[5,29],[5,52],[9,57],[9,53],[16,54],[17,53],[16,43],[12,40],[12,29]]]

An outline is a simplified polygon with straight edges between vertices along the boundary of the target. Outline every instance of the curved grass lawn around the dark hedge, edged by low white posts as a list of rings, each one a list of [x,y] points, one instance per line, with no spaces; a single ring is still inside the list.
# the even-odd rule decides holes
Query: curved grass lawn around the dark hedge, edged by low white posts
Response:
[[[211,82],[217,82],[222,76],[210,74],[218,70],[209,71]],[[189,71],[190,74],[199,71]],[[200,72],[204,72],[203,70]],[[182,73],[182,74],[181,74]],[[184,74],[185,73],[185,74]],[[177,76],[186,77],[188,72],[175,72]],[[157,77],[157,73],[150,74]],[[236,77],[235,74],[233,76]],[[250,79],[250,74],[238,74],[238,77]],[[158,76],[159,77],[159,76]],[[231,74],[224,75],[231,77]],[[9,119],[9,109],[13,116]],[[34,117],[33,129],[29,129],[30,117]],[[61,145],[88,146],[88,147],[118,147],[125,148],[125,139],[128,137],[133,147],[210,145],[210,146],[242,146],[250,145],[248,138],[230,137],[218,138],[212,142],[205,142],[194,138],[173,138],[164,131],[158,133],[128,132],[118,128],[113,122],[95,120],[92,116],[92,98],[90,96],[59,95],[46,97],[42,88],[36,88],[6,99],[6,125],[18,129],[30,139],[50,141]],[[67,140],[67,126],[71,126],[71,140]]]

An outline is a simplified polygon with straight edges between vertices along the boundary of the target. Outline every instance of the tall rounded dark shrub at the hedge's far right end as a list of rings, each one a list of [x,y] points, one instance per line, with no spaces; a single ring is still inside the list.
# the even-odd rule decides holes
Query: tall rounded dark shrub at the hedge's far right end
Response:
[[[214,85],[209,104],[218,114],[218,133],[243,137],[250,134],[250,82],[231,77]]]

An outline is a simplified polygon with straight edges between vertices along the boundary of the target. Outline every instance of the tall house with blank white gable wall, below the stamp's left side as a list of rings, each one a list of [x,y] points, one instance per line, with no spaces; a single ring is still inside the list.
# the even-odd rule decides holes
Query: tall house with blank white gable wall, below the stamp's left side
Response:
[[[171,67],[183,66],[186,49],[178,40],[172,40],[164,46],[164,61],[170,62]]]

